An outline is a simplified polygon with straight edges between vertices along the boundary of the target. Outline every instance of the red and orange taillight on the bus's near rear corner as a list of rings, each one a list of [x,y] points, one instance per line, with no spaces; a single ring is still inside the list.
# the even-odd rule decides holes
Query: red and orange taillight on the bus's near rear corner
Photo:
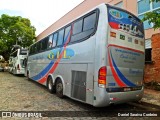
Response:
[[[101,67],[98,73],[98,86],[105,88],[106,86],[106,76],[107,76],[107,68]]]

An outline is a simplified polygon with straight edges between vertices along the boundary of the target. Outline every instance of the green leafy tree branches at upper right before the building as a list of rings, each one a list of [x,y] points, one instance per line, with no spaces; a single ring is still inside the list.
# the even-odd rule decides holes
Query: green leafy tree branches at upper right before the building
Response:
[[[160,2],[160,0],[150,0],[150,2]],[[148,20],[149,24],[153,23],[154,29],[160,28],[160,9],[146,13],[142,21],[146,20]]]

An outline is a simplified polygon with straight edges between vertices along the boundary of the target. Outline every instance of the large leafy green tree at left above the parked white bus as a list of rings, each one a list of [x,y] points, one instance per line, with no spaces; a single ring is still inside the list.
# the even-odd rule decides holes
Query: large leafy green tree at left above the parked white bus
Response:
[[[6,14],[0,17],[0,55],[8,59],[12,46],[18,44],[28,47],[35,39],[35,27],[27,18],[20,16],[9,16]]]

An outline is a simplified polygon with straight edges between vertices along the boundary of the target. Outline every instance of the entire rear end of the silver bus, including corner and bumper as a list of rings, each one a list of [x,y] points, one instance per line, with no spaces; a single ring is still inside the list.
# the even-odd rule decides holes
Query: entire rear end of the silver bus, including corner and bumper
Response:
[[[117,10],[117,8],[109,5],[106,8],[106,11],[104,10],[103,12],[108,12],[108,16],[101,18],[106,19],[106,23],[103,23],[103,25],[106,25],[106,31],[104,28],[99,29],[102,33],[106,33],[106,37],[105,39],[103,38],[102,43],[99,39],[96,39],[100,43],[96,44],[97,53],[95,56],[101,53],[99,60],[95,62],[97,67],[95,69],[94,106],[97,107],[128,101],[138,101],[143,95],[144,33],[143,29],[141,29],[143,24],[140,23],[139,25],[138,22],[140,21],[128,12]],[[117,15],[117,13],[122,15]],[[111,16],[109,14],[113,15]],[[116,28],[119,27],[117,21],[125,26],[125,22],[127,21],[125,17],[127,15],[132,16],[132,19],[134,19],[135,23],[131,22],[131,27],[138,24],[136,27],[137,30],[126,31],[126,29],[121,30],[120,28]],[[125,20],[118,17],[124,17]],[[103,35],[101,33],[97,34],[97,36]],[[103,66],[107,68],[106,86],[104,88],[98,88],[97,81],[99,78],[97,73]]]

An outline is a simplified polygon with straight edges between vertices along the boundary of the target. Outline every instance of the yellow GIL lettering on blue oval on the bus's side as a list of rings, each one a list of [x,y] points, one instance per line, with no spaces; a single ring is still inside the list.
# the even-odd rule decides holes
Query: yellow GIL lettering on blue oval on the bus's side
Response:
[[[48,54],[48,59],[53,60],[53,59],[58,59],[60,57],[61,50],[53,50]],[[63,57],[62,59],[70,59],[71,57],[74,56],[74,51],[72,49],[66,49],[64,50]]]

